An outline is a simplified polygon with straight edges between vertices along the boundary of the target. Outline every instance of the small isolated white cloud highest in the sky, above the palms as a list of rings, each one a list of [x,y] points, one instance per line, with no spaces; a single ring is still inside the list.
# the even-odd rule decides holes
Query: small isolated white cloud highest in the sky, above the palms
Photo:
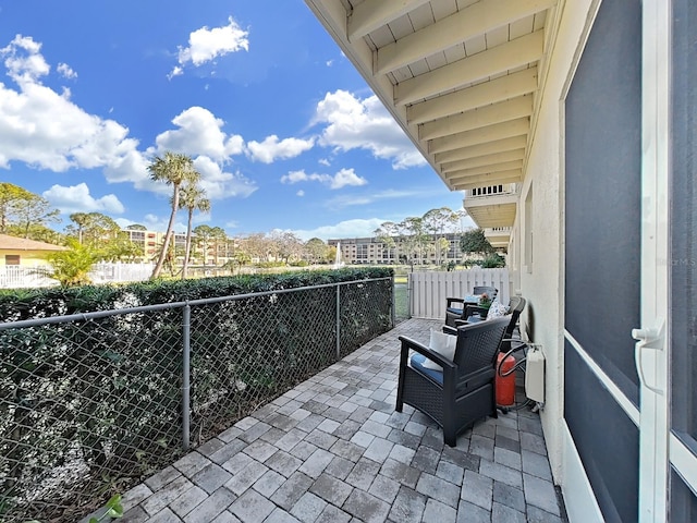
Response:
[[[192,32],[188,35],[188,47],[179,47],[179,65],[174,66],[170,77],[182,74],[183,66],[189,62],[197,68],[230,52],[242,49],[248,51],[249,32],[242,29],[232,16],[228,22],[228,25],[222,27],[209,29],[204,26]]]

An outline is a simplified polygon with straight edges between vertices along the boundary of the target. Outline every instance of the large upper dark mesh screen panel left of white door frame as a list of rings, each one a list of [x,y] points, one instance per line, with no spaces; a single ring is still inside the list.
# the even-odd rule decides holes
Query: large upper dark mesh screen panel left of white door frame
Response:
[[[565,328],[632,401],[638,378],[641,2],[602,2],[566,99]]]

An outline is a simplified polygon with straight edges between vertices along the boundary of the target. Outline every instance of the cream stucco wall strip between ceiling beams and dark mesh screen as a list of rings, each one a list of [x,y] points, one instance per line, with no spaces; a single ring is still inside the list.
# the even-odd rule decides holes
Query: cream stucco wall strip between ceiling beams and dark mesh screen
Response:
[[[586,40],[598,0],[560,1],[555,38],[548,41],[547,75],[537,100],[533,142],[521,192],[512,248],[519,253],[521,293],[528,300],[523,328],[540,343],[547,360],[546,404],[541,412],[545,438],[554,481],[563,486],[563,348],[564,348],[564,153],[563,99],[577,58]],[[533,191],[530,211],[526,198]],[[526,216],[527,215],[527,216]],[[531,217],[531,219],[530,219]],[[526,234],[533,230],[533,263],[526,252]]]

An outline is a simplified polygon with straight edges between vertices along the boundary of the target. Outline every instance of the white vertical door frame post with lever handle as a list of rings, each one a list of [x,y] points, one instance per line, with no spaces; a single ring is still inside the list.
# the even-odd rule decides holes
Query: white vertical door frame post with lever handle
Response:
[[[639,521],[668,516],[671,5],[643,1]]]

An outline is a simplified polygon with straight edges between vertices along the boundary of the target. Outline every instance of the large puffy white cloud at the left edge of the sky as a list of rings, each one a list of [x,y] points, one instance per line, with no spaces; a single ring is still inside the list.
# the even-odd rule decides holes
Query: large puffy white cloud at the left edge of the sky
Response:
[[[53,172],[105,168],[109,181],[146,185],[144,162],[135,160],[138,142],[127,137],[127,127],[85,112],[70,99],[69,89],[58,94],[41,84],[50,66],[40,48],[17,35],[0,49],[8,75],[19,86],[14,90],[0,83],[0,168],[9,169],[12,161]]]

